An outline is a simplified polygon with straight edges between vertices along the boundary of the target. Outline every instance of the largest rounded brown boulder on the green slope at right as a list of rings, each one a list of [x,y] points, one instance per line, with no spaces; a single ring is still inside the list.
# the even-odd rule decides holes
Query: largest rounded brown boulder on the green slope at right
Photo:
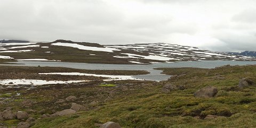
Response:
[[[195,92],[194,96],[198,98],[211,98],[211,97],[215,97],[217,93],[218,93],[217,87],[208,86]]]

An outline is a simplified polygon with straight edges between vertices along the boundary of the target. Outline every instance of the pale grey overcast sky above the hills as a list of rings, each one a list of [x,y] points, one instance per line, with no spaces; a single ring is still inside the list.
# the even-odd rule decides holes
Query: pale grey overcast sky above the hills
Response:
[[[256,51],[255,0],[1,0],[0,39]]]

